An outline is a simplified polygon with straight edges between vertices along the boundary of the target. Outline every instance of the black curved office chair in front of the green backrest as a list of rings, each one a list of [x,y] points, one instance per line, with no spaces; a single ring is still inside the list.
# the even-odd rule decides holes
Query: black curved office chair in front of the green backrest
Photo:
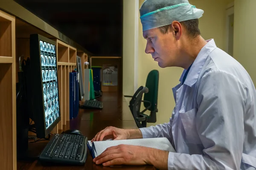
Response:
[[[140,105],[144,93],[148,93],[148,88],[140,86],[140,88],[137,89],[129,102],[130,111],[138,128],[147,126],[147,116],[142,115],[143,112],[140,112]]]

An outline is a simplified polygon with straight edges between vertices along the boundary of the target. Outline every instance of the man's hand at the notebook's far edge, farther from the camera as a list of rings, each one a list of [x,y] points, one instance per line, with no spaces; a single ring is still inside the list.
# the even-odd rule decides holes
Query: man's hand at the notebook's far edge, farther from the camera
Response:
[[[101,130],[99,133],[94,136],[94,138],[91,140],[93,141],[102,141],[105,136],[113,136],[113,140],[121,140],[121,139],[128,139],[129,138],[129,132],[125,129],[119,129],[117,127],[106,127],[105,129]]]

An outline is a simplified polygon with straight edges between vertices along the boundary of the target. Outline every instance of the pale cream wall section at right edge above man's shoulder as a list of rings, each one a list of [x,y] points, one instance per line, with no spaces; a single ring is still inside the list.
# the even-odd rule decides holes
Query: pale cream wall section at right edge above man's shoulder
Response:
[[[247,70],[256,85],[256,0],[235,0],[233,56]]]

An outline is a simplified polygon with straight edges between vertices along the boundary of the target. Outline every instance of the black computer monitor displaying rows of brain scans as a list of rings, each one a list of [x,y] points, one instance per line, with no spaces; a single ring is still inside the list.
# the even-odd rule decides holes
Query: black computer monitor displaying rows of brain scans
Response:
[[[30,35],[32,117],[38,138],[45,138],[60,122],[56,42]]]

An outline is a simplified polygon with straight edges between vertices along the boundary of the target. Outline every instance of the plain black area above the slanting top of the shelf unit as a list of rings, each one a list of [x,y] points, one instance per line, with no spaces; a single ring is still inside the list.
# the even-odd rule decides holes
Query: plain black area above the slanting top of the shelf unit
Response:
[[[122,0],[15,0],[94,56],[122,57]]]

